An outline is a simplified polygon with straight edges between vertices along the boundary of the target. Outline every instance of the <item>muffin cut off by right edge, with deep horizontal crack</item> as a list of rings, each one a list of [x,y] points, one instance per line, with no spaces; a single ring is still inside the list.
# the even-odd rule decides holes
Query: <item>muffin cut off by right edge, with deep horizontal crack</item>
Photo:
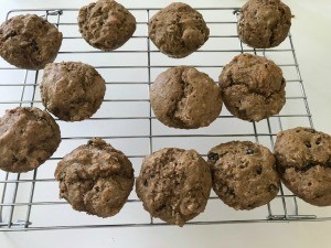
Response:
[[[331,205],[331,137],[311,128],[277,134],[277,170],[284,184],[305,202]]]

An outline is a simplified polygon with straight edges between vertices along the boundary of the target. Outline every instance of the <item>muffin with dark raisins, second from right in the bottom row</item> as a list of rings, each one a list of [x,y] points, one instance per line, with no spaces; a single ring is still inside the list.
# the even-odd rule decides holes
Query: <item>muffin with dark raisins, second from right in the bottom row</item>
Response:
[[[250,141],[232,141],[207,154],[216,195],[235,209],[253,209],[269,203],[280,180],[276,160],[265,147]]]

